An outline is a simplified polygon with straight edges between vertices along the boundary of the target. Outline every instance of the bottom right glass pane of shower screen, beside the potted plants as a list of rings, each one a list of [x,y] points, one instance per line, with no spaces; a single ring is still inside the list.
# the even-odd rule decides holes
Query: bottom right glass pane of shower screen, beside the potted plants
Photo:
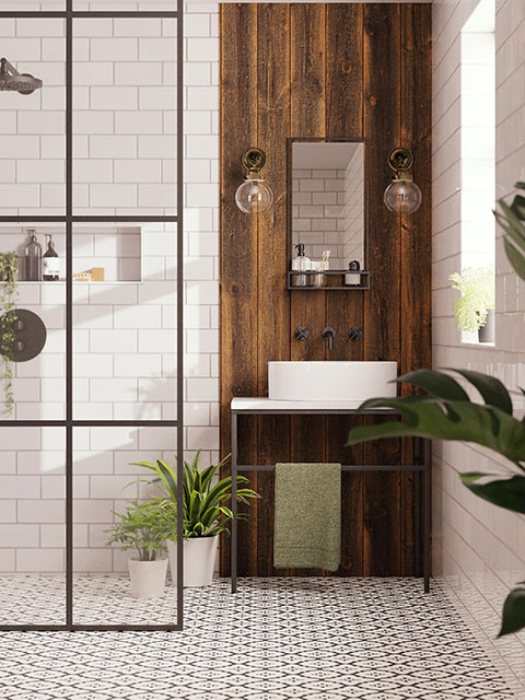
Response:
[[[88,533],[86,539],[75,538],[74,623],[176,625],[176,575],[172,576],[166,547],[172,550],[172,560],[175,549],[165,541],[165,538],[176,537],[175,510],[165,510],[165,533],[160,532],[156,520],[158,529],[150,529],[149,535],[140,539],[148,529],[144,523],[152,521],[151,511],[144,511],[139,502],[143,504],[150,497],[162,493],[154,485],[140,481],[150,472],[133,465],[162,458],[176,469],[176,429],[75,428],[73,439],[74,481],[85,486],[82,492],[77,491],[73,503],[74,529]],[[119,536],[115,527],[121,525],[121,516],[129,517],[130,513],[131,521],[138,525],[137,530],[125,537],[124,542],[108,546],[114,535]],[[145,562],[147,580],[143,581],[142,571],[138,569],[144,569],[140,559],[144,558],[148,546],[160,549],[155,552],[155,561]],[[151,556],[149,550],[148,557]],[[138,597],[140,586],[148,585],[153,586],[149,591],[151,597]]]

